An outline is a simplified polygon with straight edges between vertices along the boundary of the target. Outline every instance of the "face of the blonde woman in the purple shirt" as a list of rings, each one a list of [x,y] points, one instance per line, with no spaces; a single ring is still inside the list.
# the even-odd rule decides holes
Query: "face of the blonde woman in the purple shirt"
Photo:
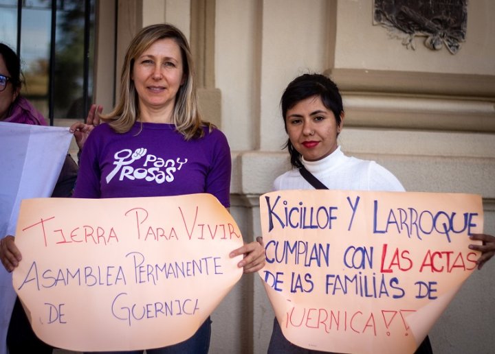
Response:
[[[177,91],[184,81],[179,45],[172,38],[157,40],[134,61],[131,79],[134,80],[141,110],[167,108],[171,112]]]

